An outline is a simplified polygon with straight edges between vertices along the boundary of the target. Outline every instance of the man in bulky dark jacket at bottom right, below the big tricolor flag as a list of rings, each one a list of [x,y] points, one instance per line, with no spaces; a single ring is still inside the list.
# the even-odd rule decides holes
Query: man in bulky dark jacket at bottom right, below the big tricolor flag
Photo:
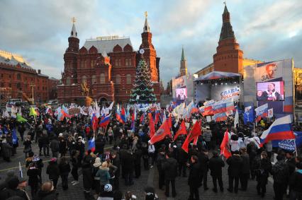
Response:
[[[272,167],[272,175],[274,177],[274,193],[276,200],[282,200],[286,192],[286,182],[289,177],[289,168],[285,163],[282,155],[277,155],[277,162]]]

